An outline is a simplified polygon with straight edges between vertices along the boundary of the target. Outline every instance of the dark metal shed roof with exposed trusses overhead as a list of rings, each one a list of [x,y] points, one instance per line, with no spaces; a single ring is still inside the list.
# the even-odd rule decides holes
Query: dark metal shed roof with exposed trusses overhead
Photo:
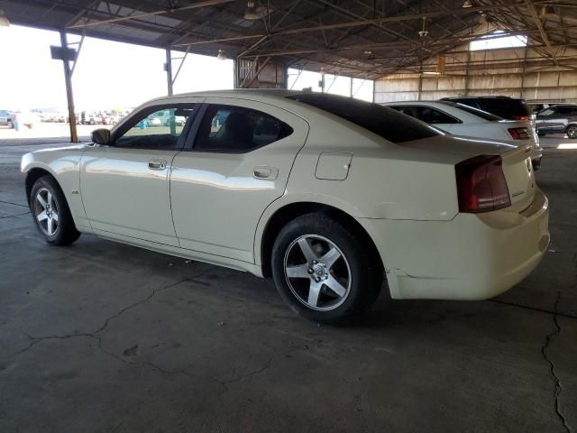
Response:
[[[485,25],[527,33],[552,62],[563,47],[577,46],[575,2],[472,0],[463,8],[463,0],[260,0],[261,19],[254,21],[243,18],[246,3],[2,0],[0,8],[16,24],[207,55],[224,49],[229,58],[270,56],[359,78],[435,58],[482,34]]]

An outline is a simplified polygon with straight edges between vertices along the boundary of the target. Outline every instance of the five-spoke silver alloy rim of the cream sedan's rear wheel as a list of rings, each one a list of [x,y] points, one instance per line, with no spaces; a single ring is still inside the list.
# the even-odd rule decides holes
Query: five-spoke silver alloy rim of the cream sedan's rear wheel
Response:
[[[323,236],[302,235],[289,244],[284,270],[289,289],[309,309],[336,309],[351,291],[349,263]]]

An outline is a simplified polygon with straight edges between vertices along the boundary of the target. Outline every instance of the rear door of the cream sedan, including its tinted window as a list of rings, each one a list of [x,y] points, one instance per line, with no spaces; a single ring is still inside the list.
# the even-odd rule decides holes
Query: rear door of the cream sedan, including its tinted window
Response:
[[[254,262],[256,226],[282,196],[308,124],[279,107],[206,98],[190,149],[172,163],[172,217],[180,246]]]

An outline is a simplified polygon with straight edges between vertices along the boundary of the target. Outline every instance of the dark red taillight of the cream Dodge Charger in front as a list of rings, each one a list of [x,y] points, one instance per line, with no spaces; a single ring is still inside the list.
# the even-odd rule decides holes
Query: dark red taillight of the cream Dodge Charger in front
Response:
[[[479,213],[511,206],[500,156],[481,155],[455,165],[459,212]]]

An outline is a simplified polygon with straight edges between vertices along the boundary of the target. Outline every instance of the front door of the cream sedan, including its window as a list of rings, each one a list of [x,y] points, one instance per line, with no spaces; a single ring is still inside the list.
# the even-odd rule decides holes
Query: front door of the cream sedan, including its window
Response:
[[[80,188],[95,233],[178,246],[169,172],[194,113],[194,103],[145,107],[114,132],[111,145],[87,148]]]

